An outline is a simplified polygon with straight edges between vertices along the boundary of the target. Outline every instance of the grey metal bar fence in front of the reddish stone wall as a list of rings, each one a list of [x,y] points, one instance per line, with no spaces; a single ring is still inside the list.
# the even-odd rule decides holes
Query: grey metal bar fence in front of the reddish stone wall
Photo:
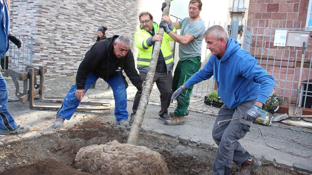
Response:
[[[244,28],[243,48],[259,60],[259,65],[275,78],[275,93],[288,104],[296,103],[299,83],[302,47],[274,46],[275,30],[307,31],[302,22],[287,20],[257,20],[249,21]],[[312,38],[309,35],[308,43]],[[312,107],[311,82],[311,44],[305,52],[303,76],[300,87],[299,103],[301,107]]]

